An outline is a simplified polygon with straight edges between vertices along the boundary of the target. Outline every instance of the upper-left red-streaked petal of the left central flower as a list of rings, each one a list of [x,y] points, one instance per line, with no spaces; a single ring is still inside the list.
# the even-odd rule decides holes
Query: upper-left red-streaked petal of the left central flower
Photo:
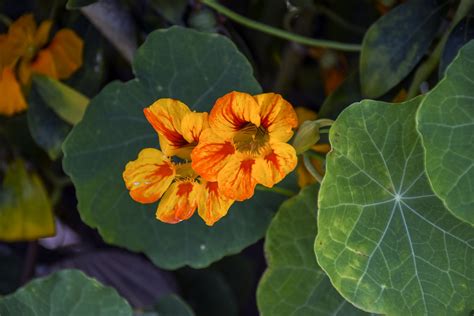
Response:
[[[159,99],[143,110],[145,117],[160,136],[161,150],[168,156],[189,157],[191,150],[181,131],[181,121],[191,113],[188,106],[174,99]]]

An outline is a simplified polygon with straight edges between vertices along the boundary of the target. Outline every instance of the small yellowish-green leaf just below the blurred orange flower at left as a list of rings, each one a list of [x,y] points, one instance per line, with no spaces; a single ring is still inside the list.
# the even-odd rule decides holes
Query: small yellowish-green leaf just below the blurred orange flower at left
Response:
[[[43,75],[33,76],[33,87],[64,121],[75,125],[84,116],[89,99],[73,88]]]

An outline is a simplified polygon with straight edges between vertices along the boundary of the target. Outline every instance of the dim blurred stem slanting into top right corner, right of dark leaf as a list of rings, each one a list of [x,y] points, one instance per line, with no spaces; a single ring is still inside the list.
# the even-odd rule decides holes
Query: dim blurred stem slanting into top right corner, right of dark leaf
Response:
[[[451,34],[451,31],[459,23],[459,21],[461,21],[469,13],[473,5],[473,0],[461,0],[448,30],[443,34],[443,37],[440,39],[428,59],[426,59],[425,62],[423,62],[416,70],[413,81],[410,85],[410,88],[408,89],[407,99],[414,98],[416,95],[418,95],[420,85],[433,73],[436,66],[438,66],[449,34]]]

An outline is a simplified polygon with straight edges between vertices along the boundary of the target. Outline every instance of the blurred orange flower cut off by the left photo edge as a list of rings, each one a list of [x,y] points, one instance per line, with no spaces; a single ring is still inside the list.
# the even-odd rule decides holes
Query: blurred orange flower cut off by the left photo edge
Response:
[[[60,30],[41,49],[51,26],[47,20],[37,27],[33,15],[27,14],[13,22],[7,34],[0,34],[0,114],[10,116],[26,109],[21,85],[29,85],[32,73],[66,79],[82,65],[83,42],[72,30]]]

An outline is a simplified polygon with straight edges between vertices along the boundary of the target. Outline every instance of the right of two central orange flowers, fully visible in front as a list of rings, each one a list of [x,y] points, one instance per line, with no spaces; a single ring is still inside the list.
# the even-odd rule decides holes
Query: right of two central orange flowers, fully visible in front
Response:
[[[217,181],[228,198],[248,199],[258,183],[272,187],[296,167],[296,152],[286,142],[297,124],[279,94],[228,93],[211,110],[210,128],[191,153],[192,167]]]

